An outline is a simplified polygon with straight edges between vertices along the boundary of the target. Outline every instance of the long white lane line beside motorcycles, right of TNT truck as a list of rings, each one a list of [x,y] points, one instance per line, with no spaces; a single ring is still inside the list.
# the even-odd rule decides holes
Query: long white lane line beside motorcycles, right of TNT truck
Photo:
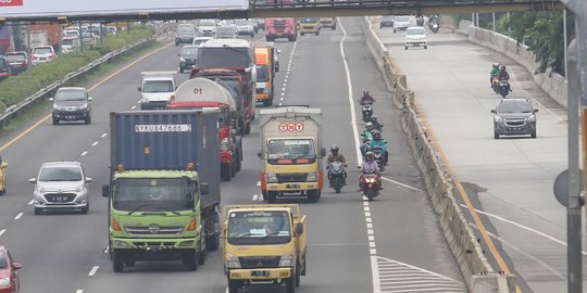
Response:
[[[340,29],[342,30],[342,39],[340,39],[340,56],[342,58],[342,64],[345,65],[345,74],[347,75],[347,86],[349,91],[349,105],[350,105],[350,114],[351,114],[351,126],[352,126],[352,135],[354,136],[354,141],[359,141],[359,129],[357,129],[357,116],[354,115],[354,101],[352,98],[352,81],[350,77],[350,69],[349,69],[349,63],[347,62],[347,56],[345,54],[345,40],[347,39],[347,30],[345,29],[345,26],[342,25],[342,22],[340,22],[339,18],[337,18],[337,22],[340,24]],[[354,151],[357,154],[357,164],[361,165],[361,150],[359,149],[359,144],[354,143]],[[367,222],[367,227],[372,222],[371,218],[365,218]],[[369,227],[369,229],[373,229],[373,226]],[[373,244],[373,245],[372,245]],[[375,249],[375,243],[370,242],[370,247],[372,250]],[[371,253],[371,275],[373,278],[373,293],[380,293],[380,279],[379,279],[379,268],[377,267],[377,258],[374,256],[374,252],[370,250]]]

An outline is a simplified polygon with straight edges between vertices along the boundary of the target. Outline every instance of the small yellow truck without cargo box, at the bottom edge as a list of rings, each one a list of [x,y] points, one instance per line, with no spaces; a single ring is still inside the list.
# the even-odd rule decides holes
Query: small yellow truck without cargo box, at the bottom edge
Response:
[[[305,215],[297,204],[228,205],[222,239],[228,293],[248,285],[285,285],[294,293],[305,276]]]

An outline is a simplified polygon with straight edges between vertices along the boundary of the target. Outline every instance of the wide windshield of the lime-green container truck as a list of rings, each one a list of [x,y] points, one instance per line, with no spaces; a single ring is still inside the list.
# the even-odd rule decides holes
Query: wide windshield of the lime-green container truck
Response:
[[[112,204],[118,211],[193,209],[193,189],[187,178],[121,178]]]

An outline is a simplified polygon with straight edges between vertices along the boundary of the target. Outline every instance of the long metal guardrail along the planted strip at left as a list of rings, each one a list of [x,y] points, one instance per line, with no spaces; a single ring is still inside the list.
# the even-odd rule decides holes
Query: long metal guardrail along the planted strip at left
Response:
[[[118,55],[122,55],[124,53],[126,53],[128,50],[132,50],[136,47],[139,47],[150,40],[154,40],[155,39],[155,35],[153,35],[152,37],[150,38],[145,38],[145,39],[141,39],[135,43],[132,43],[132,44],[127,44],[118,50],[115,50],[115,51],[112,51],[90,63],[88,63],[87,65],[78,68],[77,71],[75,72],[71,72],[68,73],[67,75],[65,75],[61,80],[59,81],[55,81],[40,90],[38,90],[37,92],[35,92],[33,95],[24,99],[22,102],[15,104],[15,105],[12,105],[10,107],[7,109],[7,111],[4,111],[4,113],[2,113],[2,115],[0,115],[0,126],[3,127],[8,120],[10,120],[10,118],[16,114],[18,114],[21,111],[23,111],[24,109],[26,109],[28,105],[30,105],[32,103],[38,101],[39,99],[42,99],[45,98],[48,93],[57,90],[59,87],[63,86],[64,84],[66,84],[67,81],[72,80],[73,78],[76,78],[100,65],[102,65],[103,63],[108,62],[109,60],[113,59],[113,58],[116,58]]]

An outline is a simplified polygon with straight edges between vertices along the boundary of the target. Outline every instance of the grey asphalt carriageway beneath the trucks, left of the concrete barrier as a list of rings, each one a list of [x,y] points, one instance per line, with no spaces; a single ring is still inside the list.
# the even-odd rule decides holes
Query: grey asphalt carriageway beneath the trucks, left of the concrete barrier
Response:
[[[346,59],[341,56],[341,43]],[[308,215],[309,269],[299,292],[466,292],[438,218],[422,191],[420,171],[399,127],[399,112],[387,101],[389,92],[364,50],[357,20],[344,20],[337,30],[300,37],[295,43],[277,41],[276,47],[282,50],[282,67],[275,103],[323,109],[326,143],[338,144],[349,161],[348,186],[341,194],[326,190],[315,204],[298,199],[282,201],[299,202]],[[104,254],[107,200],[100,190],[109,176],[108,115],[136,110],[140,72],[177,68],[178,51],[174,46],[164,47],[128,61],[99,82],[85,85],[95,98],[89,126],[52,126],[45,116],[48,109],[0,139],[2,158],[10,164],[8,193],[0,198],[0,244],[8,245],[24,265],[20,271],[23,293],[226,291],[220,252],[209,254],[207,264],[196,272],[186,271],[178,262],[139,263],[124,273],[114,273]],[[378,99],[375,113],[385,124],[384,138],[390,149],[385,190],[371,203],[357,192],[352,114],[359,115],[360,109],[352,107],[349,100],[357,100],[363,88]],[[363,128],[361,123],[354,126]],[[258,130],[255,122],[251,135],[243,139],[242,170],[222,184],[222,204],[261,203]],[[83,163],[93,178],[88,215],[34,215],[29,204],[34,187],[27,179],[48,161]],[[253,288],[246,292],[285,289]]]

